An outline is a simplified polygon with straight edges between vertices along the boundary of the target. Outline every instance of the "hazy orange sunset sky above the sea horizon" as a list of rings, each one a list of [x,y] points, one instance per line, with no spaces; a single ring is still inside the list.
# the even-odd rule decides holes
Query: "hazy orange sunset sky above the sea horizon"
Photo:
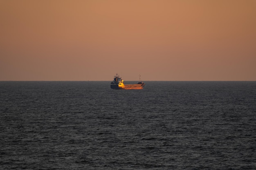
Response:
[[[256,81],[256,0],[0,0],[0,81]]]

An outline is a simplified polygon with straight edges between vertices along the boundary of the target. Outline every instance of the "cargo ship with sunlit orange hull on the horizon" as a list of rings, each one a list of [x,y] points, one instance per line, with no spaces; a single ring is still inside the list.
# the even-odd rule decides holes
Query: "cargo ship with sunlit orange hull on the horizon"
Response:
[[[115,90],[143,89],[144,86],[145,83],[140,81],[140,75],[137,84],[124,84],[124,80],[119,75],[115,75],[114,80],[110,84],[110,88]]]

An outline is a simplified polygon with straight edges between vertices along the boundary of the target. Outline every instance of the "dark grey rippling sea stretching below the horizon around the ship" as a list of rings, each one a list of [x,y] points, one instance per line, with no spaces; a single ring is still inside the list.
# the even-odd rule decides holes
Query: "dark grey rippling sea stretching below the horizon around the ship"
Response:
[[[145,83],[0,82],[0,169],[256,169],[255,81]]]

